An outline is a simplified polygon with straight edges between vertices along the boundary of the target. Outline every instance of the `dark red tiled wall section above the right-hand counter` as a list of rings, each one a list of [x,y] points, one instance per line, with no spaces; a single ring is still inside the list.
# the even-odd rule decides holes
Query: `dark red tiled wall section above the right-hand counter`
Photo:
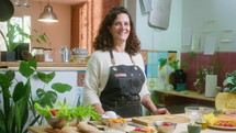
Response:
[[[214,66],[214,60],[218,60],[218,66],[222,67],[221,73],[217,75],[217,86],[222,87],[226,73],[236,70],[236,52],[217,52],[214,55],[204,55],[203,53],[195,53],[194,57],[189,53],[181,53],[181,62],[188,62],[189,66],[184,71],[187,73],[187,88],[194,90],[193,82],[196,80],[196,71],[199,67],[210,68]],[[215,67],[213,67],[214,69]],[[215,69],[214,69],[215,70]],[[216,73],[215,73],[216,74]],[[204,87],[204,86],[203,86]]]

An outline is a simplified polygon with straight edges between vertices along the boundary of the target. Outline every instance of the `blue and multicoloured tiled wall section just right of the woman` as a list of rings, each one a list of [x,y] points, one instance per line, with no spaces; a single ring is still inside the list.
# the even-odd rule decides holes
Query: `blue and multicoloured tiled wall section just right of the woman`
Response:
[[[149,51],[143,49],[142,55],[145,63],[145,74],[147,76],[147,85],[149,90],[154,89],[162,89],[158,88],[158,66],[160,65],[159,59],[166,58],[168,62],[172,62],[177,59],[177,52],[164,52],[164,51]],[[169,58],[171,57],[171,60]]]

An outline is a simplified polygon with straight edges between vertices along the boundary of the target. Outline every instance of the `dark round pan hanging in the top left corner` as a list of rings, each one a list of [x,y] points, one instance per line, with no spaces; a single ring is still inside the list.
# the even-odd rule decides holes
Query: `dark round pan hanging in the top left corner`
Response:
[[[8,21],[14,14],[14,5],[10,0],[0,0],[0,22]]]

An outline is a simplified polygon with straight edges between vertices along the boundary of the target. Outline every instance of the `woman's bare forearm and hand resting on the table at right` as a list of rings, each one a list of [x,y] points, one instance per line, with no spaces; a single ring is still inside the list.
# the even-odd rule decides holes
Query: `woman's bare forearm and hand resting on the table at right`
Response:
[[[149,95],[145,95],[142,99],[142,104],[147,108],[150,112],[154,114],[170,114],[169,111],[166,108],[159,108],[157,109],[154,104],[153,100],[150,99]]]

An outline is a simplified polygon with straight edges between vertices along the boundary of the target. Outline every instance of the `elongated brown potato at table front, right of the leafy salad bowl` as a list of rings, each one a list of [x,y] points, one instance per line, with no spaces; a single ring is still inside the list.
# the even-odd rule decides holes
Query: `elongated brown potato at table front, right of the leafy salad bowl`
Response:
[[[97,129],[86,122],[80,122],[79,124],[77,124],[77,129],[81,133],[101,133],[101,131],[99,129]]]

